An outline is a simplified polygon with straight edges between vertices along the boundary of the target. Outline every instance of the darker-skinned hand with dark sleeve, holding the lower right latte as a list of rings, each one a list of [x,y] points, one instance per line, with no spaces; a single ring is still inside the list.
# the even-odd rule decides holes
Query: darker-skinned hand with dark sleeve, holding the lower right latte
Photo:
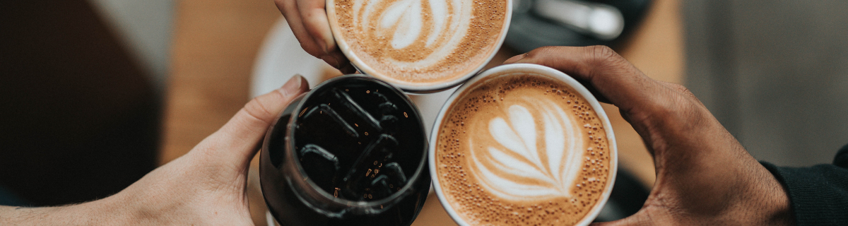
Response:
[[[683,85],[645,76],[609,47],[541,47],[505,63],[536,63],[581,81],[622,113],[654,157],[642,209],[595,225],[790,225],[783,186]]]

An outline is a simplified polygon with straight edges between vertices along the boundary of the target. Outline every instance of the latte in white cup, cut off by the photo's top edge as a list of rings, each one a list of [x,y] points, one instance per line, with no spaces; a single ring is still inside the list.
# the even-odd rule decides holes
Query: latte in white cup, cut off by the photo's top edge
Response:
[[[510,19],[510,0],[328,0],[326,9],[357,69],[413,91],[448,88],[477,73]]]

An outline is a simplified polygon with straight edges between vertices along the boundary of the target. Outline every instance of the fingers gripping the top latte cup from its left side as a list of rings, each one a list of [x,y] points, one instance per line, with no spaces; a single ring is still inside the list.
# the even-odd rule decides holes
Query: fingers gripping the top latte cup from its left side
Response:
[[[344,74],[356,72],[332,37],[325,0],[274,0],[274,3],[286,17],[300,47]]]

